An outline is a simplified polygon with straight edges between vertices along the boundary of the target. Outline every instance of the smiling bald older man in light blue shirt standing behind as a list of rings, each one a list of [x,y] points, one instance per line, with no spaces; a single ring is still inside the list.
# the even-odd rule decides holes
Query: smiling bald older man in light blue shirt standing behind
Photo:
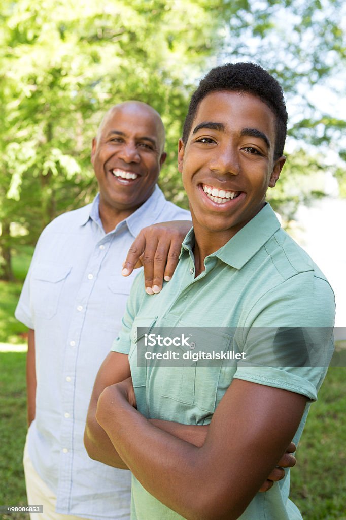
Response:
[[[25,280],[16,310],[30,329],[24,470],[28,503],[44,504],[44,518],[129,517],[130,473],[90,460],[83,431],[133,281],[121,276],[131,243],[144,226],[190,218],[156,185],[164,145],[152,107],[109,110],[92,142],[99,194],[46,227]]]

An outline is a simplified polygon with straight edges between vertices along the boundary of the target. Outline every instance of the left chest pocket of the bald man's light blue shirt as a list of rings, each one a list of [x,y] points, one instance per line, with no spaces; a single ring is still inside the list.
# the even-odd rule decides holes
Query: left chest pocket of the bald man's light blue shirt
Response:
[[[35,316],[53,318],[58,310],[59,298],[71,266],[37,264],[30,285],[31,304]]]

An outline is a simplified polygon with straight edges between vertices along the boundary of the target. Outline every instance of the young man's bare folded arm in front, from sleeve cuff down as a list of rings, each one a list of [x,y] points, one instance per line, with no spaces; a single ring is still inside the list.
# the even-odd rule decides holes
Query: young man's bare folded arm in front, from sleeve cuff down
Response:
[[[235,520],[285,452],[306,402],[234,380],[199,448],[145,419],[122,385],[100,395],[96,418],[143,487],[170,509],[188,520]]]

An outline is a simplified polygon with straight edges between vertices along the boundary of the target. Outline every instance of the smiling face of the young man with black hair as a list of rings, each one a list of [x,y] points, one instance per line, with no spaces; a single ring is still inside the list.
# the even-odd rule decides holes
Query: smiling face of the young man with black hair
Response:
[[[261,210],[285,162],[274,161],[274,148],[275,115],[256,96],[222,91],[201,101],[178,153],[195,231],[225,243]]]

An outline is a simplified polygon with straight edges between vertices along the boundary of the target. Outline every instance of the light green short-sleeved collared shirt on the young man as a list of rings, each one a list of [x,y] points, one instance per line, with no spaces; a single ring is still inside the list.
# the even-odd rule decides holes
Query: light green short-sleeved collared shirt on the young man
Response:
[[[275,356],[279,360],[292,359],[287,353],[281,356],[280,339],[287,337],[287,330],[299,327],[308,331],[307,344],[312,345],[309,352],[328,350],[329,359],[334,293],[307,253],[281,229],[270,204],[205,259],[205,270],[197,278],[193,246],[192,229],[182,244],[175,274],[161,293],[149,296],[144,292],[142,273],[132,286],[122,331],[112,350],[129,354],[138,410],[147,418],[208,424],[233,378],[297,392],[310,402],[316,400],[326,367],[311,366],[315,363],[309,362],[309,356],[303,366],[281,366],[270,360]],[[193,330],[197,340],[203,339],[219,352],[244,352],[246,359],[217,363],[179,361],[176,365],[180,366],[138,362],[137,344],[143,341],[144,333],[150,334],[157,327],[164,327],[165,331],[196,328]],[[289,342],[288,346],[294,348]],[[162,352],[165,348],[168,350],[163,347]],[[189,347],[181,347],[181,352],[188,350]],[[294,437],[296,444],[310,402]],[[288,493],[289,471],[271,490],[257,493],[239,518],[301,519]],[[132,477],[131,518],[182,517]]]

